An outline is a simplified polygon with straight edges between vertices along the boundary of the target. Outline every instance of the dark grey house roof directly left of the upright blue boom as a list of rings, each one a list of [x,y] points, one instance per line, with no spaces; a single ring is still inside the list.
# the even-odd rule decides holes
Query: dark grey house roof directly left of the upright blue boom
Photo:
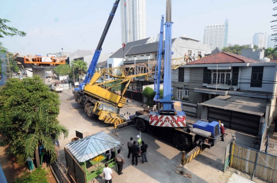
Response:
[[[176,38],[171,39],[171,42],[173,43],[175,39]],[[152,43],[147,43],[147,44],[142,44],[142,45],[136,45],[136,46],[133,46],[126,53],[126,56],[157,52],[158,47],[159,47],[159,41],[152,42]]]

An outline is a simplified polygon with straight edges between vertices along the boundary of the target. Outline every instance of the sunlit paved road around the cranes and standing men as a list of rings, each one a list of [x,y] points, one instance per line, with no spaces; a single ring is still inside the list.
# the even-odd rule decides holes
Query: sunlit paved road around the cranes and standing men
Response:
[[[236,143],[252,147],[254,137],[242,132],[226,129],[227,136],[225,142],[217,143],[212,149],[205,149],[200,155],[196,156],[185,167],[192,174],[192,179],[183,177],[174,172],[176,165],[180,165],[181,152],[177,150],[170,142],[166,142],[149,133],[142,133],[142,140],[148,145],[147,155],[148,163],[142,164],[141,158],[137,166],[132,166],[131,159],[127,158],[127,141],[130,136],[135,137],[138,131],[134,125],[117,129],[118,136],[112,135],[113,126],[105,124],[95,118],[87,117],[84,107],[78,105],[74,100],[66,101],[72,96],[71,90],[65,90],[60,93],[61,110],[58,120],[69,129],[69,137],[60,140],[62,148],[60,149],[60,158],[66,165],[64,157],[64,147],[71,139],[75,137],[75,130],[80,131],[84,136],[88,136],[99,131],[105,131],[121,142],[122,154],[125,157],[126,164],[123,166],[124,174],[119,176],[115,173],[113,182],[227,182],[228,176],[222,178],[223,172],[219,170],[224,167],[225,147],[231,141],[231,133],[235,133]],[[127,111],[134,114],[140,109],[135,105],[125,105],[121,113]],[[126,114],[127,115],[127,114]],[[194,122],[197,119],[188,118],[188,121]],[[231,174],[230,174],[231,175]],[[221,176],[221,178],[220,178]],[[227,177],[227,178],[226,178]],[[97,177],[98,182],[104,182],[104,179]]]

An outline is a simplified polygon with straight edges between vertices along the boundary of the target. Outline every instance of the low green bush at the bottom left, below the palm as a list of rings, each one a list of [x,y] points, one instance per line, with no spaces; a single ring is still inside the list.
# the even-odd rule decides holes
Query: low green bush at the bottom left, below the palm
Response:
[[[31,172],[24,172],[20,177],[16,177],[15,183],[48,183],[46,175],[49,171],[42,169],[41,167]]]

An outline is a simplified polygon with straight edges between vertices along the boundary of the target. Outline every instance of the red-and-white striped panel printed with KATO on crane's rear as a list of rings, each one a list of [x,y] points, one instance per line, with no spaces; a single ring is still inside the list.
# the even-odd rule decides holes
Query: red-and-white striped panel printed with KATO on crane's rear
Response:
[[[164,127],[185,127],[186,116],[150,115],[149,124]]]

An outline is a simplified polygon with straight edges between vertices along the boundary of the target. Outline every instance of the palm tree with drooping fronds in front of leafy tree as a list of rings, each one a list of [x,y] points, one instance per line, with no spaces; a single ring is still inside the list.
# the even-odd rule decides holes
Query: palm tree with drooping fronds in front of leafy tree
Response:
[[[51,139],[51,133],[55,132],[58,137],[64,134],[64,137],[68,136],[68,129],[58,123],[56,119],[50,119],[45,104],[40,105],[35,113],[23,113],[19,114],[21,119],[24,119],[24,130],[27,131],[28,136],[25,140],[24,152],[26,157],[32,157],[35,153],[36,164],[39,166],[38,144],[43,144],[46,150],[49,150],[51,156],[51,162],[56,157],[56,149]]]

